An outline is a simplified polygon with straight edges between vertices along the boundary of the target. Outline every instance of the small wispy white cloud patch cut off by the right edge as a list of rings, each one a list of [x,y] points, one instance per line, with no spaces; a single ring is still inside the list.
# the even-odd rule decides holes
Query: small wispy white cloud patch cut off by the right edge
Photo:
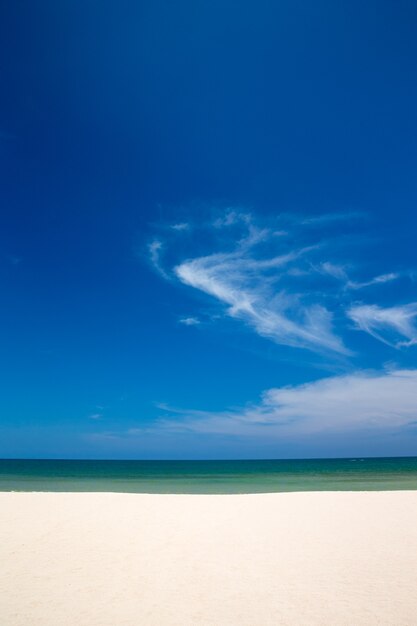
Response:
[[[352,306],[347,315],[360,330],[392,347],[417,343],[416,302],[387,308],[362,304]],[[399,340],[398,335],[403,339]]]

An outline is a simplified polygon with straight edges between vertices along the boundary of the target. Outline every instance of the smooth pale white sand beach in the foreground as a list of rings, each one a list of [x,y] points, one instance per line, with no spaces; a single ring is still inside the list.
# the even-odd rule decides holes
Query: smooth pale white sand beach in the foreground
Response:
[[[2,626],[417,624],[417,491],[0,493]]]

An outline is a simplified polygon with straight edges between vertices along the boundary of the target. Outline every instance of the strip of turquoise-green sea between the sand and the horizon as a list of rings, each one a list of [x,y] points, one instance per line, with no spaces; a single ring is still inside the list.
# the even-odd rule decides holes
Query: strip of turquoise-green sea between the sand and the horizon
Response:
[[[0,459],[0,491],[268,493],[417,489],[417,457],[292,461]]]

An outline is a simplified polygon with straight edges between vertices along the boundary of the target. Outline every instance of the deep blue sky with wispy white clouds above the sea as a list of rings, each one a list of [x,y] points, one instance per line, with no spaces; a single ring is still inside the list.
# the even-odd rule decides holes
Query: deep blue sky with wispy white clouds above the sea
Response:
[[[0,5],[0,456],[417,455],[411,0]]]

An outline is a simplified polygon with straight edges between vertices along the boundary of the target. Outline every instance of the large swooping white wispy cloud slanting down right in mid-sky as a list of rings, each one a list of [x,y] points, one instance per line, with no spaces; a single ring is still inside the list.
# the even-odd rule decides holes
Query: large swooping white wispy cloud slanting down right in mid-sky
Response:
[[[278,256],[252,256],[254,246],[268,236],[268,231],[251,227],[249,236],[232,252],[184,261],[174,273],[184,284],[225,304],[228,315],[246,322],[263,337],[288,346],[348,354],[333,333],[332,315],[326,308],[307,305],[300,296],[275,289],[280,272],[313,247]]]

